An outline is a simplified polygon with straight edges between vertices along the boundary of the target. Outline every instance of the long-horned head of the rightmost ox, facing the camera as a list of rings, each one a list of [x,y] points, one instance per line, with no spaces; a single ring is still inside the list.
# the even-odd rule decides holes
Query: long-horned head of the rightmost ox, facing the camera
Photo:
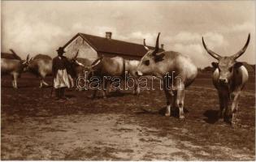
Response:
[[[227,85],[230,82],[234,71],[236,71],[240,66],[243,65],[242,62],[236,62],[236,59],[241,57],[241,55],[245,53],[245,50],[249,45],[249,38],[250,35],[248,35],[245,46],[239,52],[230,57],[222,57],[219,54],[208,49],[202,37],[202,45],[206,49],[207,53],[209,53],[210,56],[218,60],[218,62],[212,62],[211,65],[215,69],[219,70],[219,83],[221,83],[222,85]]]

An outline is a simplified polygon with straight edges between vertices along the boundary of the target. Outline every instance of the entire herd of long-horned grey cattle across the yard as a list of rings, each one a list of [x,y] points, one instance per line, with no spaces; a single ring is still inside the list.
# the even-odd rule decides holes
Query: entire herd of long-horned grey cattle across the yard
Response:
[[[156,40],[154,49],[149,49],[141,61],[126,60],[121,57],[97,58],[94,62],[89,62],[86,59],[77,58],[78,53],[74,58],[69,59],[70,73],[72,78],[76,79],[89,72],[89,77],[98,76],[101,80],[105,76],[120,76],[124,73],[132,76],[135,80],[134,94],[140,93],[140,86],[138,78],[142,75],[151,75],[161,78],[163,80],[163,91],[165,92],[167,100],[166,116],[171,115],[171,108],[179,108],[179,118],[184,118],[184,95],[185,88],[188,87],[193,80],[197,78],[197,66],[192,60],[178,52],[173,51],[160,51],[158,47],[160,33]],[[236,59],[245,53],[245,49],[249,45],[250,35],[245,43],[245,46],[236,54],[230,57],[223,57],[219,54],[208,49],[202,37],[202,45],[206,52],[218,62],[212,62],[215,68],[213,72],[213,83],[218,90],[219,95],[219,118],[223,118],[224,122],[236,124],[236,111],[238,108],[238,101],[241,95],[241,90],[248,80],[248,71],[241,62],[236,62]],[[38,54],[34,58],[30,58],[29,54],[26,60],[22,60],[14,50],[11,49],[13,57],[7,56],[2,53],[1,57],[1,75],[11,75],[13,77],[12,86],[17,87],[17,79],[24,71],[29,71],[33,75],[37,75],[41,79],[40,87],[48,86],[44,81],[46,75],[52,74],[52,58],[48,55]],[[84,61],[84,62],[83,62]],[[172,87],[169,80],[166,79],[168,73],[174,74],[172,79]],[[180,79],[176,79],[176,78]],[[102,83],[102,84],[106,84]],[[97,90],[93,90],[93,97],[96,95]],[[106,97],[105,90],[102,91],[103,97]]]

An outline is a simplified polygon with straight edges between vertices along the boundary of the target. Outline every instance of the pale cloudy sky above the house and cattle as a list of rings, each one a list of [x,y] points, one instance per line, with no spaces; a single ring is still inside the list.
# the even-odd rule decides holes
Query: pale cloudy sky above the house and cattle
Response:
[[[141,1],[141,2],[2,2],[2,52],[15,49],[56,55],[77,32],[154,45],[158,32],[166,50],[189,55],[197,66],[215,61],[206,45],[221,55],[240,50],[251,33],[249,47],[239,61],[255,63],[254,1]]]

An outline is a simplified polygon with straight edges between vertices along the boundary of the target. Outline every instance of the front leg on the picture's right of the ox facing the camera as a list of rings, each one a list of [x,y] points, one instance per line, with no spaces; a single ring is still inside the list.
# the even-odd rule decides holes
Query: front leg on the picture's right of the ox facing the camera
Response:
[[[231,105],[231,111],[232,111],[232,119],[231,123],[232,125],[236,125],[236,113],[238,110],[238,101],[240,98],[240,91],[236,91],[232,93],[232,105]]]

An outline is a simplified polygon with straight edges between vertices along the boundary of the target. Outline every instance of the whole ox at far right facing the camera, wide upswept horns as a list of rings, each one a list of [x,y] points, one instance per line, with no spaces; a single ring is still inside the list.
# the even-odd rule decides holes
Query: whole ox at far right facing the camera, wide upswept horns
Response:
[[[230,57],[222,57],[208,49],[202,37],[202,45],[207,53],[218,60],[218,62],[212,62],[211,65],[215,67],[213,83],[219,95],[219,117],[223,118],[224,122],[231,122],[232,125],[236,123],[236,112],[241,90],[248,80],[248,71],[243,63],[236,62],[236,59],[245,53],[245,49],[249,45],[249,37],[250,35],[245,46]]]

